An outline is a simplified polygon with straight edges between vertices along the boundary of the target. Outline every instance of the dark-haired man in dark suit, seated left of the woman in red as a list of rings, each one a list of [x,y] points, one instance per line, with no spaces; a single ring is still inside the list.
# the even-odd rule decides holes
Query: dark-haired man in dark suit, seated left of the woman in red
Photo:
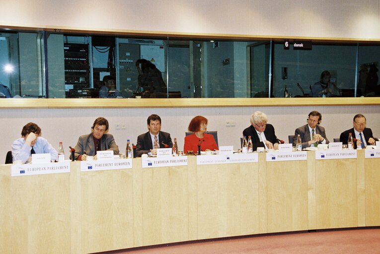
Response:
[[[145,153],[156,155],[157,148],[173,147],[170,134],[161,131],[161,118],[158,115],[150,115],[147,124],[149,131],[137,137],[136,157]]]

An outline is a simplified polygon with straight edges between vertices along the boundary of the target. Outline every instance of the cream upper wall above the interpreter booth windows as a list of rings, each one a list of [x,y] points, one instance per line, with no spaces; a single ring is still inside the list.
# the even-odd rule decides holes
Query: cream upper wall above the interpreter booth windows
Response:
[[[0,25],[380,38],[380,0],[2,0]]]

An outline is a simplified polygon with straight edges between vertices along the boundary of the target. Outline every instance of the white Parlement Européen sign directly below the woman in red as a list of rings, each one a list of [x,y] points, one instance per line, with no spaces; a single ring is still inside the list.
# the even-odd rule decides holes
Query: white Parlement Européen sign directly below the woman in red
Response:
[[[246,163],[258,161],[258,153],[234,153],[230,155],[217,154],[197,156],[197,165]]]

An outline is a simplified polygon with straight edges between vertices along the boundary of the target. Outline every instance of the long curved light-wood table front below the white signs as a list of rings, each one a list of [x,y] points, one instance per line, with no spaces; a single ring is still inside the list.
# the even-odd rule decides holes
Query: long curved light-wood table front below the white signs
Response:
[[[209,238],[380,226],[380,158],[10,176],[0,166],[0,253],[94,253]]]

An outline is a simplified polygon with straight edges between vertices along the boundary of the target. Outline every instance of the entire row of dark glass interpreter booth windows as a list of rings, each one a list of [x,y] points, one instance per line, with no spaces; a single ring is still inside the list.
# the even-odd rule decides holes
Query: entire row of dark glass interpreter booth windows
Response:
[[[380,45],[0,30],[0,97],[379,96]]]

